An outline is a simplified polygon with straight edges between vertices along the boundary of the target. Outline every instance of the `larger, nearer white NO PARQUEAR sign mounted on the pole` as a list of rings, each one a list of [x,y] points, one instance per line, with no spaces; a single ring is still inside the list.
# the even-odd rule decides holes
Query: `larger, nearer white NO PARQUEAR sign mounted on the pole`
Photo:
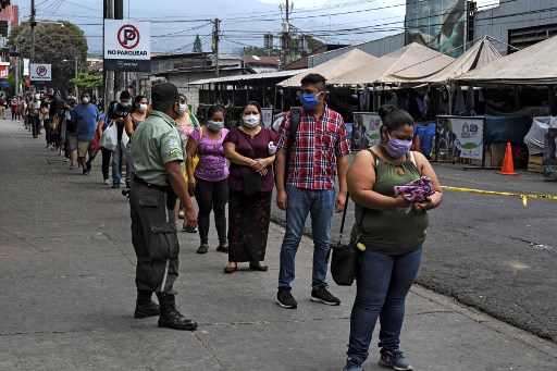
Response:
[[[104,70],[151,71],[151,24],[104,20]]]

